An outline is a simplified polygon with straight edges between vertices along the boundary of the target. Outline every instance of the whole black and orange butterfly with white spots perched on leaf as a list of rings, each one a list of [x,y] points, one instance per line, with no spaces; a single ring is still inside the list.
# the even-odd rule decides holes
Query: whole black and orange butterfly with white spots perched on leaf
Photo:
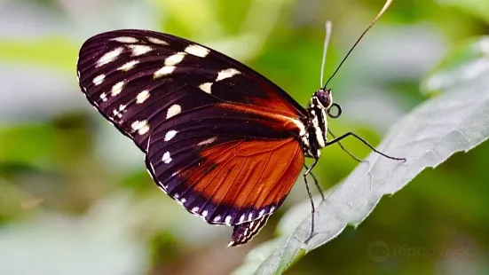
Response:
[[[304,158],[314,160],[307,184],[321,148],[359,138],[327,140],[327,116],[341,108],[326,85],[304,108],[239,61],[174,35],[122,29],[92,36],[77,75],[91,105],[146,154],[164,193],[209,224],[233,226],[229,246],[263,228]]]

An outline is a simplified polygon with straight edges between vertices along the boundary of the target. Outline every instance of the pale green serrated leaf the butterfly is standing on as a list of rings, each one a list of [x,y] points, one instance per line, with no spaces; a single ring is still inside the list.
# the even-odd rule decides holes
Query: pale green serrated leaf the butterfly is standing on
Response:
[[[486,40],[480,39],[469,47],[480,46]],[[398,192],[423,169],[435,168],[452,154],[467,152],[489,138],[489,70],[466,66],[452,69],[461,74],[441,78],[450,81],[450,85],[442,83],[440,87],[444,89],[438,97],[406,114],[378,146],[378,150],[407,161],[392,161],[371,153],[369,163],[359,165],[341,185],[328,191],[327,200],[317,207],[312,240],[304,244],[311,227],[311,216],[304,211],[303,222],[280,241],[255,274],[282,273],[304,253],[334,239],[347,224],[358,226],[383,195]],[[476,77],[467,79],[464,75]],[[440,76],[430,75],[433,77]]]

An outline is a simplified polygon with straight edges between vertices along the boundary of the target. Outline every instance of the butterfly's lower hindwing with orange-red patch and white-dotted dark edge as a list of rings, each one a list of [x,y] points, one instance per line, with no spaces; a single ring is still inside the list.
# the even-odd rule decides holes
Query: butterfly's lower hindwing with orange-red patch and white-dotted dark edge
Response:
[[[150,145],[146,162],[166,193],[210,224],[242,224],[272,214],[302,169],[300,145],[293,138],[218,139],[177,151],[153,152]]]

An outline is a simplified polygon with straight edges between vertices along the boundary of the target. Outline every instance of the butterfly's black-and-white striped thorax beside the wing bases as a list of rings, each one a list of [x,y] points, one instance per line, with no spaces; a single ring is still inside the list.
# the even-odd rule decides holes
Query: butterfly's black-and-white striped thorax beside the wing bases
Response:
[[[307,108],[306,136],[302,141],[304,151],[313,158],[319,158],[320,149],[327,143],[327,114],[318,98],[313,96]],[[307,140],[307,143],[306,143]]]

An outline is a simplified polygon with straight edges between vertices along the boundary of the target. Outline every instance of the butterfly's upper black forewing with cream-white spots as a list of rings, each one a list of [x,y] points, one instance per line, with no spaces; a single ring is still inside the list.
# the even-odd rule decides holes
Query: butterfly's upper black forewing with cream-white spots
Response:
[[[264,76],[174,35],[130,29],[95,35],[83,44],[77,69],[80,86],[91,104],[143,151],[151,130],[146,122],[161,122],[181,112],[182,107],[186,111],[228,102],[307,115]],[[181,101],[185,104],[175,106]]]

